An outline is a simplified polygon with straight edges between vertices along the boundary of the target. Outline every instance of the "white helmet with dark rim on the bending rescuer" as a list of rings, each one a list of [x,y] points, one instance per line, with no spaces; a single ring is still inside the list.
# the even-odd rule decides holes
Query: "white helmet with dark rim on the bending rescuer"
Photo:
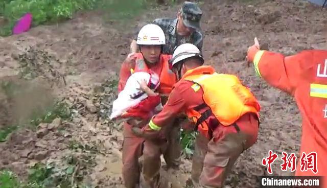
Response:
[[[197,48],[196,45],[191,43],[181,44],[174,51],[173,57],[170,60],[170,66],[172,68],[178,62],[193,56],[198,56],[203,60],[200,50]]]

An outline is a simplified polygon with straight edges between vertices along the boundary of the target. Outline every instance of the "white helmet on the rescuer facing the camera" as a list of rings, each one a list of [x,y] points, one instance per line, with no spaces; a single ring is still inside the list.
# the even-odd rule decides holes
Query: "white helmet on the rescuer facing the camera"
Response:
[[[164,45],[166,44],[165,33],[158,25],[152,23],[145,25],[139,30],[136,43],[141,45]]]

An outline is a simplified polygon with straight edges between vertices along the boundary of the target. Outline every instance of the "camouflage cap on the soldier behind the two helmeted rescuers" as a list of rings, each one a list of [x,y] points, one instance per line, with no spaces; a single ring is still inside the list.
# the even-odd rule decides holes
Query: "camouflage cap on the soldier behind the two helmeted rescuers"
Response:
[[[202,11],[196,3],[184,2],[181,8],[181,16],[186,27],[200,29]]]

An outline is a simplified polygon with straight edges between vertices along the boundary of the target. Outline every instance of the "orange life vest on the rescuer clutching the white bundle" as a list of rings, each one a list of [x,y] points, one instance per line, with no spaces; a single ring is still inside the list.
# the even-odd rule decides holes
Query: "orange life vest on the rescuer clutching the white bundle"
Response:
[[[134,70],[131,69],[131,72],[138,72],[138,71],[148,71],[149,68],[147,63],[144,61],[142,53],[135,54],[135,67]],[[169,69],[169,60],[171,59],[171,55],[160,55],[160,60],[158,63],[162,64],[161,71],[160,71],[160,85],[158,87],[158,91],[160,94],[169,94],[172,89],[173,85],[176,83],[176,76],[175,74]]]

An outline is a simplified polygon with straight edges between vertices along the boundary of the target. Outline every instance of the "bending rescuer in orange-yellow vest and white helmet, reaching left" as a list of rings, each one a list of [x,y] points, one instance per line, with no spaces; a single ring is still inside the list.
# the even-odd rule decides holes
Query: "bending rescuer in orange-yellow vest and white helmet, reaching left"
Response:
[[[170,62],[179,81],[168,102],[147,126],[132,130],[153,139],[167,122],[185,112],[192,123],[182,127],[198,130],[201,138],[197,141],[207,140],[207,148],[199,146],[203,142],[196,144],[200,150],[196,153],[207,153],[202,161],[194,156],[192,180],[203,187],[222,187],[240,154],[256,142],[260,104],[236,76],[218,74],[213,67],[204,66],[193,44],[178,46]],[[202,172],[194,172],[199,170]]]

